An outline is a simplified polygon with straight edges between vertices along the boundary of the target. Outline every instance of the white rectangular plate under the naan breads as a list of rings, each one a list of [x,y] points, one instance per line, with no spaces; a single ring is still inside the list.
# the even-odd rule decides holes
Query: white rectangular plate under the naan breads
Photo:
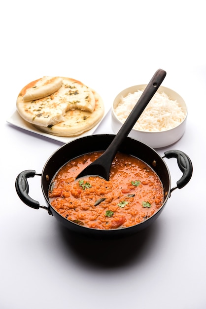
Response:
[[[106,116],[108,111],[109,111],[109,108],[108,109],[105,108],[103,118]],[[56,141],[59,141],[59,142],[62,142],[62,143],[69,143],[69,142],[75,140],[76,138],[92,135],[95,132],[95,130],[98,128],[100,123],[103,121],[103,118],[92,129],[82,133],[81,135],[77,135],[77,136],[73,136],[73,137],[56,136],[56,135],[44,133],[44,132],[38,130],[37,128],[35,128],[31,123],[25,121],[19,115],[19,113],[17,111],[15,111],[14,114],[9,119],[7,119],[7,122],[16,126],[16,127],[21,128],[21,129],[25,129],[29,132],[33,132],[33,133],[39,134],[41,136],[46,136],[50,139],[53,139],[53,140],[56,140]]]

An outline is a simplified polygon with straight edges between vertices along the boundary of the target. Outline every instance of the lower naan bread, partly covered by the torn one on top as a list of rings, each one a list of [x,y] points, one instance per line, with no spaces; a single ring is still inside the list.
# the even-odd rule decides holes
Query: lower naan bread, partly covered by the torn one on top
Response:
[[[43,132],[57,136],[77,136],[85,131],[92,129],[103,117],[104,105],[100,95],[91,90],[95,97],[95,109],[93,113],[75,109],[68,111],[65,120],[52,126],[36,126]]]

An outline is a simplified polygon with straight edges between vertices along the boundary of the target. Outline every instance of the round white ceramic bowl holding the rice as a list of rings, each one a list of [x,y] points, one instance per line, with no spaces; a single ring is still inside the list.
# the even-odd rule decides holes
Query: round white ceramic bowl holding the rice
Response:
[[[114,109],[118,105],[120,98],[122,96],[126,97],[129,93],[134,93],[137,90],[144,90],[145,87],[146,87],[146,84],[136,85],[136,86],[126,88],[123,91],[121,91],[114,99],[111,114],[112,114],[112,129],[115,134],[119,131],[120,127],[122,126],[122,122],[117,118],[114,112]],[[182,108],[183,112],[185,113],[185,118],[182,120],[181,123],[179,123],[176,127],[172,129],[168,129],[165,131],[155,131],[155,132],[140,131],[137,129],[132,129],[132,131],[130,132],[128,136],[142,143],[145,143],[152,148],[163,148],[163,147],[172,145],[173,143],[175,143],[182,137],[182,135],[185,132],[188,111],[187,111],[187,106],[184,100],[182,99],[182,97],[178,93],[173,91],[172,89],[160,86],[157,92],[160,92],[160,93],[165,92],[171,100],[173,101],[176,100],[179,106]]]

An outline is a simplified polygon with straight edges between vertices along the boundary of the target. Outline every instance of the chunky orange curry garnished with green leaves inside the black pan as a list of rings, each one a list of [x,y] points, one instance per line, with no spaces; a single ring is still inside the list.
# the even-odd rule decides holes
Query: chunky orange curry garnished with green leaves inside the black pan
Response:
[[[74,223],[102,230],[134,226],[154,215],[163,204],[163,185],[134,156],[117,153],[109,181],[98,176],[75,180],[101,154],[84,154],[58,171],[48,193],[52,207]]]

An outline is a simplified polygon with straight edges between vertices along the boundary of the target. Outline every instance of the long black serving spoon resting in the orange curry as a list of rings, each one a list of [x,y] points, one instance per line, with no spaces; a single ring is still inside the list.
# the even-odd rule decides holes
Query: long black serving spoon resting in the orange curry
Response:
[[[127,117],[126,121],[114,137],[113,141],[109,147],[104,151],[104,153],[96,159],[94,162],[89,164],[84,168],[76,177],[82,178],[84,176],[100,176],[105,180],[109,180],[109,173],[111,168],[111,163],[117,153],[119,146],[124,142],[125,138],[128,136],[132,128],[134,127],[137,119],[144,111],[145,107],[152,99],[157,89],[166,77],[166,72],[159,69],[155,72],[154,76],[144,89],[141,97],[137,101],[135,107],[131,111],[130,115]]]

